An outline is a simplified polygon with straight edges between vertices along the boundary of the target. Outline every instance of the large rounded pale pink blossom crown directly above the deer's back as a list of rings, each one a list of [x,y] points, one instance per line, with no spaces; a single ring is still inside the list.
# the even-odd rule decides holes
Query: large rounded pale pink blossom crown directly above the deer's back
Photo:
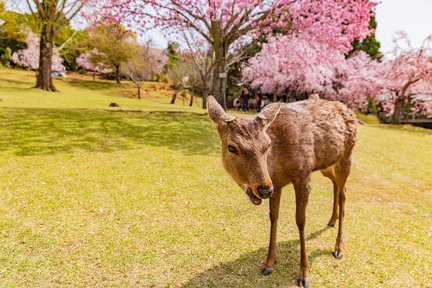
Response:
[[[338,50],[303,35],[271,37],[249,60],[243,78],[266,94],[286,90],[327,94],[336,74],[333,66],[342,61]]]

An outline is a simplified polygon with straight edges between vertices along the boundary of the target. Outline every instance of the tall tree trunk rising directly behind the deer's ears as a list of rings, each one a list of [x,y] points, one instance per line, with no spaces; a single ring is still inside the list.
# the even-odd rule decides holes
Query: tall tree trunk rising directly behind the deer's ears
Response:
[[[213,96],[219,102],[224,110],[226,110],[226,87],[227,87],[227,67],[226,57],[228,54],[228,44],[223,39],[223,32],[220,23],[215,21],[212,23],[212,34],[214,38],[213,49],[215,53],[215,66],[213,70]]]

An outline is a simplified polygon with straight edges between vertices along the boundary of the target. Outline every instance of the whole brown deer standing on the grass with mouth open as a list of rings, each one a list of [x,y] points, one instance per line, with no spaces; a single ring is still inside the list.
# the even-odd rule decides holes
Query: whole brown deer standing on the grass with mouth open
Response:
[[[270,199],[270,246],[261,273],[269,275],[276,262],[276,230],[281,190],[292,183],[296,196],[296,223],[300,234],[298,285],[309,286],[305,248],[306,206],[311,173],[320,170],[333,182],[333,213],[328,223],[339,230],[333,255],[342,258],[345,182],[357,134],[356,115],[340,102],[318,97],[290,104],[270,104],[250,118],[225,113],[209,96],[207,110],[221,138],[225,170],[260,205]]]

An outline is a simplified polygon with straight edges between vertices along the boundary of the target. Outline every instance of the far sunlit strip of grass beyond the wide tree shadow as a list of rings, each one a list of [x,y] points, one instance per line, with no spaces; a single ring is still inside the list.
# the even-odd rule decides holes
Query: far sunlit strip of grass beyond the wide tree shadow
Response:
[[[176,105],[169,104],[172,91],[168,85],[146,83],[142,100],[131,99],[136,93],[134,86],[125,82],[122,85],[113,81],[93,82],[90,76],[72,75],[55,80],[59,93],[43,92],[32,88],[35,83],[33,72],[13,69],[0,69],[0,108],[66,108],[104,110],[163,110],[201,112],[201,104],[188,107],[178,96]],[[109,108],[115,102],[120,108]]]

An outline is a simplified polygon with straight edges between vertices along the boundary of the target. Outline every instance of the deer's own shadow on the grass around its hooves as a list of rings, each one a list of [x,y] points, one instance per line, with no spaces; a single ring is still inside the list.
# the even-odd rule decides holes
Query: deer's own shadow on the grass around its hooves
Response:
[[[321,229],[309,235],[314,239],[326,231]],[[331,255],[330,250],[316,250],[308,255],[313,267],[316,258]],[[191,287],[292,287],[295,286],[300,263],[300,244],[298,240],[278,243],[277,264],[270,276],[260,274],[262,261],[267,256],[267,247],[241,255],[238,259],[220,263],[218,266],[197,274],[182,288]]]

